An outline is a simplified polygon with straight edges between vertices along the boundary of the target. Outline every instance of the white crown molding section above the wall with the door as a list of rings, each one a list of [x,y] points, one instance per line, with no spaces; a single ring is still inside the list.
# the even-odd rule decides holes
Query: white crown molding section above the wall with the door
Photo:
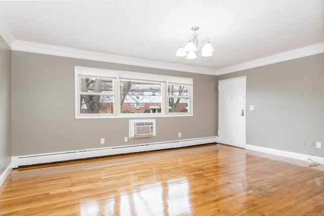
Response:
[[[240,70],[251,69],[255,67],[260,67],[264,65],[269,65],[273,63],[288,61],[292,59],[297,59],[301,57],[311,56],[319,53],[324,53],[324,42],[308,47],[303,47],[296,50],[291,50],[285,53],[279,53],[272,56],[267,56],[264,58],[252,60],[249,62],[244,62],[241,64],[232,65],[229,67],[220,68],[217,70],[216,75],[222,75],[226,73],[232,73]]]

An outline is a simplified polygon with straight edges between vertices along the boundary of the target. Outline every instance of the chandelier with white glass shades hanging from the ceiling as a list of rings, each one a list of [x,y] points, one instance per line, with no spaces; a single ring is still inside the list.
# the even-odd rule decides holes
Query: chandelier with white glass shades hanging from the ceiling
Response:
[[[203,37],[201,39],[200,45],[198,44],[198,34],[196,33],[196,30],[198,30],[198,26],[191,27],[191,30],[194,31],[194,33],[189,37],[189,41],[187,42],[184,49],[182,48],[182,44],[179,47],[179,50],[176,53],[176,56],[182,57],[187,56],[187,59],[195,59],[197,58],[197,52],[201,48],[201,56],[209,57],[213,55],[213,47],[209,42],[209,38],[207,36]],[[207,38],[207,40],[204,38]],[[204,44],[204,46],[203,46]]]

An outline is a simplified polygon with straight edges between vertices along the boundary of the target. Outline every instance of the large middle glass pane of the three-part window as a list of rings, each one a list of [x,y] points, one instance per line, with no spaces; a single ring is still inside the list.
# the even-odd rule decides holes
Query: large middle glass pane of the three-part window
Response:
[[[120,81],[121,113],[159,113],[161,102],[161,84]]]

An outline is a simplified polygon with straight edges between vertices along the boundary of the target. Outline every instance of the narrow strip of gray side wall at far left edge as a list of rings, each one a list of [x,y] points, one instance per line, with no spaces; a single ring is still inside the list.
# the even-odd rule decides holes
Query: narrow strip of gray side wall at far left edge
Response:
[[[11,161],[11,50],[0,36],[0,174]]]

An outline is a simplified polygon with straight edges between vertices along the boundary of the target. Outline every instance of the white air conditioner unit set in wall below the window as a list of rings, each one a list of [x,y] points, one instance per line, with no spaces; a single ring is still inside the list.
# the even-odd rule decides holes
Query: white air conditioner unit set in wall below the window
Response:
[[[129,120],[129,138],[155,136],[155,128],[155,119]]]

